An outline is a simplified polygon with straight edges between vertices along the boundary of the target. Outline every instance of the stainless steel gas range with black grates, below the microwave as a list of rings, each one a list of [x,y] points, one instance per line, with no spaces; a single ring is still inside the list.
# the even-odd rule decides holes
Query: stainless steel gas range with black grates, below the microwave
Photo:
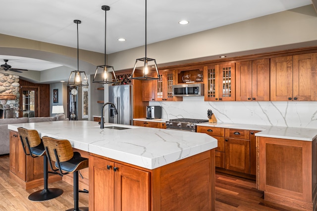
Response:
[[[166,121],[166,129],[186,130],[196,132],[196,125],[199,123],[206,123],[208,120],[200,119],[172,119]]]

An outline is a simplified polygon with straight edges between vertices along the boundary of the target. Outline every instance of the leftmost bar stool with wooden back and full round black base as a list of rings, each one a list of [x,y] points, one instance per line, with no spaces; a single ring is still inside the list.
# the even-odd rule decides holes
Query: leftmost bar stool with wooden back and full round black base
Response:
[[[30,194],[29,200],[45,201],[60,196],[63,193],[62,189],[48,188],[49,173],[54,172],[49,172],[48,158],[45,154],[45,148],[38,131],[35,129],[25,129],[23,127],[18,127],[18,132],[25,155],[32,156],[32,158],[43,156],[44,159],[44,189]],[[28,149],[28,152],[26,149]]]

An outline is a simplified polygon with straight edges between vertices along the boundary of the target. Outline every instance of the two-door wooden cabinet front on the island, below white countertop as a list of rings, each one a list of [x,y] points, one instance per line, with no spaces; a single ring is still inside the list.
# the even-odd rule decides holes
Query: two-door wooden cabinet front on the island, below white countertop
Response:
[[[89,210],[150,210],[150,172],[89,157]]]

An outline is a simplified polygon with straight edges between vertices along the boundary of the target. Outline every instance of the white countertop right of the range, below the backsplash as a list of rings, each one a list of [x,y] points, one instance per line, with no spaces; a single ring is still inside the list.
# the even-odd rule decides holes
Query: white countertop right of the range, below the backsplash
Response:
[[[276,127],[263,125],[247,125],[247,124],[230,124],[230,123],[200,123],[197,126],[208,127],[226,127],[235,129],[250,129],[260,130],[256,136],[270,137],[270,138],[284,138],[301,141],[312,141],[317,137],[317,129],[302,128],[302,127]]]

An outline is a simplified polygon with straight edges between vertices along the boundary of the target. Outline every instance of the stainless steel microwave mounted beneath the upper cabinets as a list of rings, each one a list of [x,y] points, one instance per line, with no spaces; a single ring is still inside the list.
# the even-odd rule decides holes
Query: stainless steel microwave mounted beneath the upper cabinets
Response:
[[[172,85],[173,96],[204,96],[204,84]]]

